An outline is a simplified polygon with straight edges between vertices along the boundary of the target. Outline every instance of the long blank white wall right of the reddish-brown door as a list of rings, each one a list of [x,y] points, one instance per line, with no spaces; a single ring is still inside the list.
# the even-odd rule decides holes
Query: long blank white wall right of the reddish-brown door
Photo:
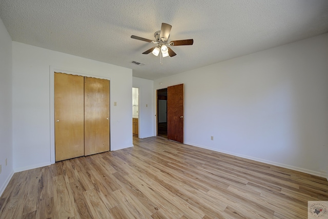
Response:
[[[185,84],[186,144],[326,176],[327,42],[323,34],[157,79],[154,90]]]

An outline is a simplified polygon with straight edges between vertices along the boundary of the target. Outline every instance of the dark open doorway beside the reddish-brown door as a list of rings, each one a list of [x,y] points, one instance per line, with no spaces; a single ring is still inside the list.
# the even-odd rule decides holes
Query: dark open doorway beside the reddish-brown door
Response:
[[[168,89],[157,90],[157,135],[168,137]]]

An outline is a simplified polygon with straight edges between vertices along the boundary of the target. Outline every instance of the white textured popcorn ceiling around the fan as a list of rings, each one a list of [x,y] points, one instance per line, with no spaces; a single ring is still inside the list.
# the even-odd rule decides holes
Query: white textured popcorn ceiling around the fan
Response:
[[[328,32],[327,0],[0,0],[13,41],[133,69],[156,79]],[[142,52],[161,23],[172,25],[163,58]],[[144,63],[144,66],[132,64]]]

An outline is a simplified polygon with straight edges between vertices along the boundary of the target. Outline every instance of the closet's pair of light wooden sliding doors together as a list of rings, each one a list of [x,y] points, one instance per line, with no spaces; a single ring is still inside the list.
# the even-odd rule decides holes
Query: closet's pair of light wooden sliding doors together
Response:
[[[110,81],[54,73],[55,160],[110,150]]]

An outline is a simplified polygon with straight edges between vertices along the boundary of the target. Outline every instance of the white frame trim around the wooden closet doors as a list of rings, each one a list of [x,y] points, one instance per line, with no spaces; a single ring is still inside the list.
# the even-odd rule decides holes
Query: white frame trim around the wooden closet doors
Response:
[[[50,66],[50,71],[49,71],[49,81],[50,81],[50,96],[49,96],[49,101],[50,101],[50,162],[51,164],[55,163],[55,79],[54,79],[54,73],[55,72],[60,72],[60,73],[65,73],[65,74],[73,74],[73,75],[79,75],[79,76],[86,76],[86,77],[95,77],[95,78],[100,78],[100,79],[107,79],[111,81],[110,77],[104,77],[104,76],[98,76],[98,75],[93,75],[90,74],[90,72],[84,72],[82,70],[72,70],[64,67],[56,67],[56,66]],[[110,87],[111,89],[111,87]],[[109,98],[111,99],[111,90],[109,90]],[[109,114],[110,114],[110,121],[109,121],[109,128],[111,128],[111,118],[112,118],[112,112],[111,112],[111,107],[109,106]],[[111,134],[111,132],[110,132]],[[111,146],[111,136],[110,136],[110,142],[109,146]],[[111,147],[109,148],[111,151]]]

